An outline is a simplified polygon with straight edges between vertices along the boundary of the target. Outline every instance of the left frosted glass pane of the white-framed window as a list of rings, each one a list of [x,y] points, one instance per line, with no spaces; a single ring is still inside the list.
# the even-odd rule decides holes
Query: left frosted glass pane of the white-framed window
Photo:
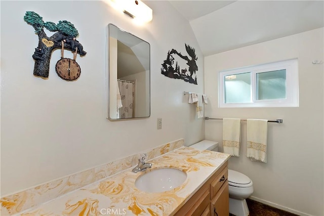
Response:
[[[225,103],[251,102],[251,72],[225,76]]]

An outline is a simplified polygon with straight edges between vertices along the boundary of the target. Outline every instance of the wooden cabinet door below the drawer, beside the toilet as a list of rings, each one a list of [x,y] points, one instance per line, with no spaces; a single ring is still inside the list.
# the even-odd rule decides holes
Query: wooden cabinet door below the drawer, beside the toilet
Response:
[[[228,182],[226,181],[216,196],[211,201],[211,215],[228,216],[229,200],[228,200]]]

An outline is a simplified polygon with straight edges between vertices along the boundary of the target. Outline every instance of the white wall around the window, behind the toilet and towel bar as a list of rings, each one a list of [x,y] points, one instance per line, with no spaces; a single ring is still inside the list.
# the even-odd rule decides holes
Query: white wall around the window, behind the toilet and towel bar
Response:
[[[223,118],[282,118],[268,124],[267,164],[246,157],[246,122],[241,123],[240,157],[229,168],[249,176],[253,198],[300,214],[323,211],[323,28],[283,37],[205,58],[206,116]],[[298,58],[298,108],[218,108],[218,72],[249,65]],[[222,121],[205,123],[205,136],[222,150]],[[290,209],[289,209],[290,208]]]

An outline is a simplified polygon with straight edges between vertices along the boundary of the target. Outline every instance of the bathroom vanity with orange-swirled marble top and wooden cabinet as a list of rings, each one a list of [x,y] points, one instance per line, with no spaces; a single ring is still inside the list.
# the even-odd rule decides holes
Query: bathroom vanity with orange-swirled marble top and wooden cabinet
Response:
[[[229,154],[182,146],[147,161],[152,163],[150,169],[134,173],[134,167],[128,168],[20,214],[228,215],[229,157]],[[164,192],[136,188],[139,177],[161,168],[181,170],[187,178],[180,186]]]

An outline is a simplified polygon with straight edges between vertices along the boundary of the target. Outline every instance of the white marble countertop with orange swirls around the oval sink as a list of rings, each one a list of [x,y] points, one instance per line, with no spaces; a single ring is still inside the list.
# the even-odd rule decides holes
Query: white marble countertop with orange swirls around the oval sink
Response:
[[[175,167],[187,173],[185,182],[161,193],[135,187],[143,172],[126,169],[72,191],[21,215],[172,215],[227,161],[229,154],[181,147],[147,162],[152,168]]]

